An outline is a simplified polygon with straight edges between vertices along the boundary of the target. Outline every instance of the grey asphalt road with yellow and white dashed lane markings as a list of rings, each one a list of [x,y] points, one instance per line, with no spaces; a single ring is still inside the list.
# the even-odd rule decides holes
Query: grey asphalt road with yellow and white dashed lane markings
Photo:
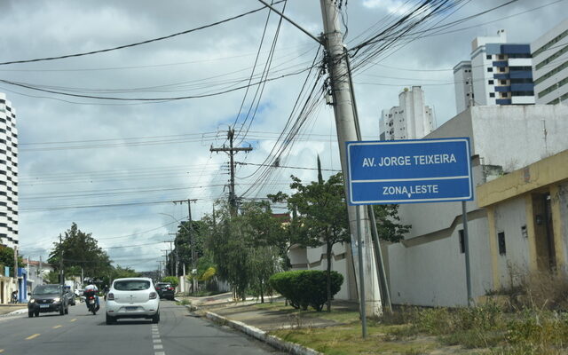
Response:
[[[160,309],[159,324],[120,319],[107,326],[103,304],[92,315],[79,303],[64,316],[43,313],[28,318],[26,313],[0,318],[0,354],[282,354],[233,329],[195,318],[174,302],[162,301]]]

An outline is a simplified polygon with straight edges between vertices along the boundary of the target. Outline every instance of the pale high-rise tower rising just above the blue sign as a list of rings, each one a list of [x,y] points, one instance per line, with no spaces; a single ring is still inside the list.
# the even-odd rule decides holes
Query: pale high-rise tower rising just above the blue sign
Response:
[[[432,109],[424,105],[422,88],[405,88],[398,95],[398,106],[383,110],[379,126],[381,140],[418,139],[434,130]]]

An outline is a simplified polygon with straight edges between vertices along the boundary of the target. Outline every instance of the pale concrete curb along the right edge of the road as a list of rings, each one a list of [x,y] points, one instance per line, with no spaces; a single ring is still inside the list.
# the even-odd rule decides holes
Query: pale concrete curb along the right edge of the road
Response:
[[[306,348],[303,345],[297,343],[290,343],[280,339],[278,336],[268,335],[264,330],[257,327],[251,327],[238,320],[227,319],[223,316],[218,315],[213,312],[205,312],[205,317],[214,322],[233,327],[233,329],[239,330],[242,333],[252,336],[253,338],[260,340],[261,342],[271,345],[273,348],[280,351],[287,351],[294,355],[323,355],[322,352],[315,351],[310,348]]]

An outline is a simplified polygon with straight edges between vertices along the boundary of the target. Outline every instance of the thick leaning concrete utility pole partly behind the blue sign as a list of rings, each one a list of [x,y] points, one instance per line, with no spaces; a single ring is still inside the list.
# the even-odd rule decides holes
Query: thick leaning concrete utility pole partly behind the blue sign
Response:
[[[348,167],[345,142],[358,140],[357,122],[354,114],[355,107],[352,101],[352,88],[349,81],[347,53],[343,45],[343,33],[340,24],[341,15],[338,12],[336,1],[320,0],[320,4],[324,24],[323,39],[327,50],[327,62],[333,94],[335,126],[337,128],[343,176],[346,177]],[[347,192],[347,185],[345,185],[345,191]],[[359,290],[359,297],[364,298],[361,304],[365,304],[365,307],[361,307],[361,317],[365,317],[367,313],[380,315],[383,312],[381,292],[376,274],[373,242],[369,233],[370,222],[367,213],[361,210],[363,208],[363,206],[347,207],[351,227],[351,252],[353,256],[358,256],[356,263],[356,260],[353,260],[354,264],[356,264],[355,270],[358,270],[359,264],[362,264],[364,271],[363,280],[358,280],[359,287],[363,286],[363,284],[365,285],[365,288],[361,287]],[[358,215],[362,218],[360,224],[358,224],[357,220]],[[362,241],[357,241],[357,238],[355,238],[357,235],[361,235]]]

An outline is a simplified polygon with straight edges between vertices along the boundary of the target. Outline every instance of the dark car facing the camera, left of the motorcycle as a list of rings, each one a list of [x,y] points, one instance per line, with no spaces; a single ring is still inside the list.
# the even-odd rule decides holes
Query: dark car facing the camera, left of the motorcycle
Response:
[[[28,302],[28,317],[38,317],[43,312],[69,312],[68,299],[61,285],[39,285],[34,288]]]

